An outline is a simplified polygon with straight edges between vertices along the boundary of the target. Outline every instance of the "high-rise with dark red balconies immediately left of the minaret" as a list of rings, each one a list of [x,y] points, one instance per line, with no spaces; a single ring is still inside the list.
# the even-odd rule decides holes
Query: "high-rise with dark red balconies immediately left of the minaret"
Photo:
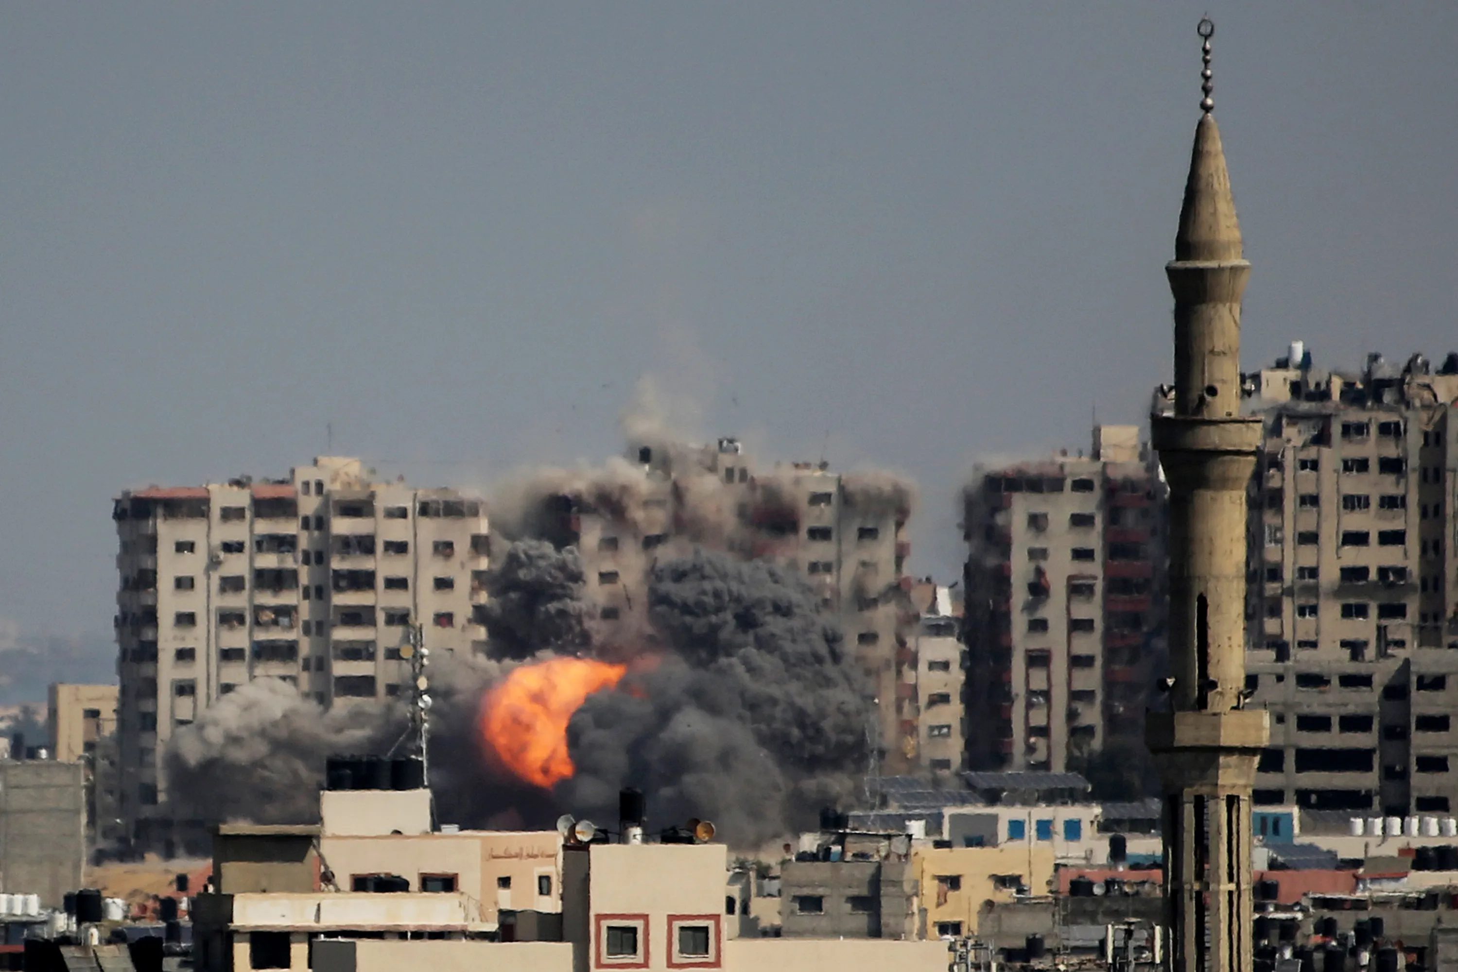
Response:
[[[1163,637],[1163,482],[1133,426],[964,494],[967,764],[1066,771],[1142,745]]]

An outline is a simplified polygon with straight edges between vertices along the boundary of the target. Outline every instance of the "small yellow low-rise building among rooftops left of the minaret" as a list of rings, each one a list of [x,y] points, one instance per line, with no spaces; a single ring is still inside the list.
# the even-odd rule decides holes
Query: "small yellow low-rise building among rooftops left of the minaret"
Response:
[[[1019,887],[1045,895],[1053,883],[1051,844],[936,848],[917,841],[911,860],[921,883],[927,936],[935,937],[977,934],[984,902],[1010,902]]]

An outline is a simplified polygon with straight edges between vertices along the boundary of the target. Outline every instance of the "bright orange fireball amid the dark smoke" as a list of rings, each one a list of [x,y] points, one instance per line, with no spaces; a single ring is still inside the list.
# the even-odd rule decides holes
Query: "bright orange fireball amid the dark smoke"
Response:
[[[512,775],[550,790],[576,772],[567,723],[593,692],[614,688],[625,665],[551,659],[512,669],[481,705],[481,745]]]

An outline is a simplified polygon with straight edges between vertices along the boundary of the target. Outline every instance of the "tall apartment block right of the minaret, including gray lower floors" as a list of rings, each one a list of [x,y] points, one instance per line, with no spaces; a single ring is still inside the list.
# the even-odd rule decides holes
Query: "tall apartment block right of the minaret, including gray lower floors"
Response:
[[[1245,377],[1247,688],[1271,710],[1255,801],[1391,815],[1458,800],[1458,354],[1317,369],[1298,342]]]

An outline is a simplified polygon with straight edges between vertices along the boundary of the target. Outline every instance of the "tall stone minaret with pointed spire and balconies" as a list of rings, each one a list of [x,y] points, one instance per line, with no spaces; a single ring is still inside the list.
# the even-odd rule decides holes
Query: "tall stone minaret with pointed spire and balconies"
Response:
[[[1220,130],[1194,131],[1175,259],[1174,414],[1152,417],[1169,479],[1169,711],[1150,713],[1149,749],[1165,790],[1165,906],[1171,972],[1251,971],[1251,785],[1270,736],[1245,710],[1245,488],[1261,442],[1241,417],[1241,251]]]

